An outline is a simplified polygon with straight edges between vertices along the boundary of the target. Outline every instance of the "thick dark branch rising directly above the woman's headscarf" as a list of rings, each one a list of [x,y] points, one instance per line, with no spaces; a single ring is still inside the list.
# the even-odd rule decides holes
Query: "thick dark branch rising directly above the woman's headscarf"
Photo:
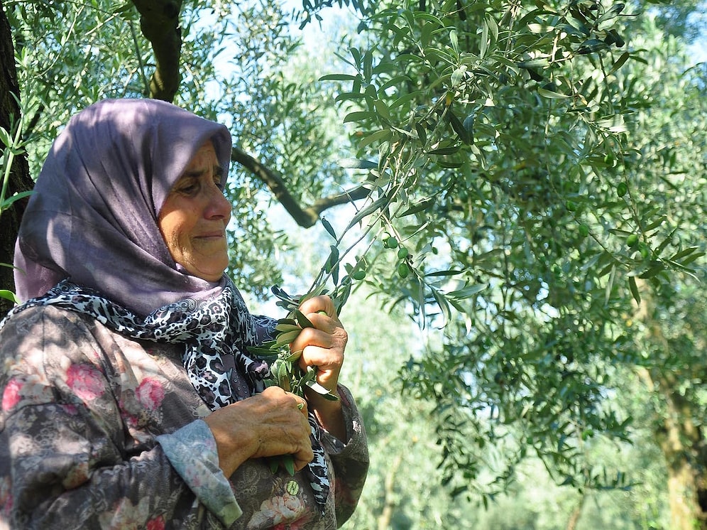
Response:
[[[133,0],[140,13],[140,28],[152,44],[156,69],[150,80],[150,97],[172,102],[182,76],[179,70],[182,0]]]

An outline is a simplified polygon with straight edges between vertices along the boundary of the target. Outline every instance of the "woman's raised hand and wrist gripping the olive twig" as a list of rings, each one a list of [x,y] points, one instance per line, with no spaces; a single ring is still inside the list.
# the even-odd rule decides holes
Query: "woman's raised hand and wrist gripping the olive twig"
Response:
[[[300,311],[314,328],[304,328],[292,341],[293,352],[302,350],[300,367],[317,370],[317,383],[337,395],[337,384],[341,366],[344,364],[344,349],[349,335],[336,315],[334,302],[329,296],[315,296],[300,305]],[[313,411],[319,423],[340,440],[346,442],[346,426],[341,413],[341,401],[330,401],[316,391],[305,389],[309,410]]]

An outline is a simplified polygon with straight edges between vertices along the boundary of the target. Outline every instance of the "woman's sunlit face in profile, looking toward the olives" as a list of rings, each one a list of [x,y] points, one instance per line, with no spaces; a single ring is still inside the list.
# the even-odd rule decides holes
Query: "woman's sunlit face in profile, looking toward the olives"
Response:
[[[172,186],[158,217],[172,258],[207,281],[219,281],[229,264],[226,225],[231,204],[221,190],[222,171],[207,141]]]

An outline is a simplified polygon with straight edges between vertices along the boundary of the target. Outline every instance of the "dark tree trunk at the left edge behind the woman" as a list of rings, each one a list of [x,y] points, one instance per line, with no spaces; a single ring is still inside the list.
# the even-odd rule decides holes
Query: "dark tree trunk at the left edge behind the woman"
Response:
[[[5,16],[2,0],[0,0],[0,127],[6,131],[10,131],[11,123],[20,118],[20,109],[13,98],[13,94],[19,99],[20,90],[17,84],[12,33],[10,23]],[[4,146],[1,147],[4,148]],[[2,177],[3,175],[0,175],[0,184]],[[14,193],[31,190],[32,186],[33,182],[29,174],[26,155],[15,156],[10,171],[10,182],[6,197],[11,197]],[[12,269],[7,265],[12,264],[15,239],[26,204],[26,199],[18,200],[8,210],[1,212],[0,289],[14,291]],[[12,303],[9,300],[0,298],[0,318],[11,307]]]

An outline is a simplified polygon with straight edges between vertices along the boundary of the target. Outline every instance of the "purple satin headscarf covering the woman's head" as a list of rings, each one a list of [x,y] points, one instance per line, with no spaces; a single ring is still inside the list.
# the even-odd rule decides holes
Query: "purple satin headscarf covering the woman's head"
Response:
[[[231,134],[155,99],[108,99],[76,114],[55,140],[15,247],[17,296],[70,278],[138,315],[223,286],[175,264],[158,214],[172,185],[211,139],[224,169]]]

